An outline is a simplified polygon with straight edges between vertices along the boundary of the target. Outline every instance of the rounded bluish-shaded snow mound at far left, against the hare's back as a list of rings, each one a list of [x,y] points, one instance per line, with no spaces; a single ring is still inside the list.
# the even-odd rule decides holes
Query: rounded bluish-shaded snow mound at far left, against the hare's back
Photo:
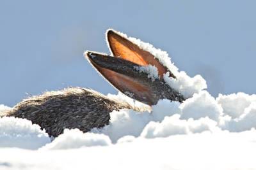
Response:
[[[0,148],[19,147],[36,149],[50,143],[51,139],[39,125],[32,125],[31,121],[14,118],[0,118]]]

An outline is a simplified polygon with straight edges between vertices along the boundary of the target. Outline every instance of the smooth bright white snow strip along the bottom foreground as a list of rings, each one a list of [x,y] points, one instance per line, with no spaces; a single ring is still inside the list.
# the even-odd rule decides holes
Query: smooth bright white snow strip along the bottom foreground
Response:
[[[0,169],[255,169],[255,130],[137,138],[71,150],[3,148]]]

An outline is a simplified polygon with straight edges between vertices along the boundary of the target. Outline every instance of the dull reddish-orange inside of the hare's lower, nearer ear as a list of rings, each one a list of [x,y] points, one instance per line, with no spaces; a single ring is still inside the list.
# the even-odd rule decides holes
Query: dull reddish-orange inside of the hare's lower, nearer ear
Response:
[[[125,76],[124,74],[116,73],[115,71],[99,67],[93,62],[92,64],[100,72],[100,74],[102,74],[116,89],[120,90],[120,92],[123,92],[124,94],[129,92],[132,94],[132,96],[126,94],[127,96],[149,105],[153,104],[152,92],[149,87],[142,85],[138,81]]]

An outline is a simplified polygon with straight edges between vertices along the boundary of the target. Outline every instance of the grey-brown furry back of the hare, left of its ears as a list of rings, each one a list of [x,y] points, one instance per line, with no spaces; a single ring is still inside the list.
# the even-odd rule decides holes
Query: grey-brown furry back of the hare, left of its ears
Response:
[[[109,113],[122,108],[131,106],[118,103],[94,90],[76,87],[30,97],[5,115],[31,120],[50,136],[56,137],[65,128],[87,132],[93,127],[108,125]]]

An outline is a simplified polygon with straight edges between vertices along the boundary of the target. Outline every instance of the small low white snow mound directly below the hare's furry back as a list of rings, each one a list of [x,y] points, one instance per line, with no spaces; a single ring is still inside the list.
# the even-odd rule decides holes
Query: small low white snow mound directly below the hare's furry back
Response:
[[[42,150],[66,150],[81,148],[84,146],[107,146],[111,141],[104,134],[93,134],[79,131],[79,129],[65,129],[63,134],[54,139],[52,143],[45,145]]]

